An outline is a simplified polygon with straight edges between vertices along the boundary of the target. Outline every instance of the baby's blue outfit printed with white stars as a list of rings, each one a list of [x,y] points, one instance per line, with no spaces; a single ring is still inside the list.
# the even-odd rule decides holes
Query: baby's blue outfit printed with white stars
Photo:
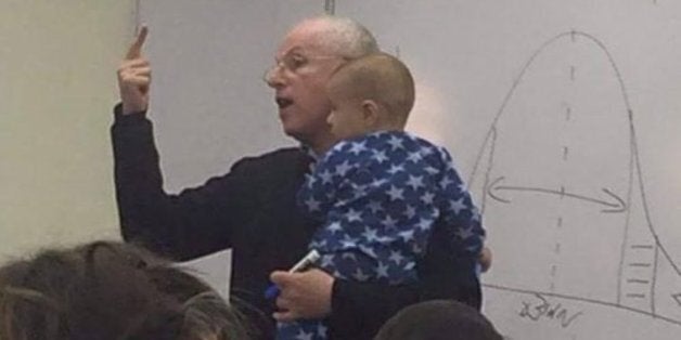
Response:
[[[340,279],[386,285],[417,279],[438,219],[458,257],[477,257],[485,231],[449,153],[401,131],[334,145],[298,192],[298,204],[323,225],[310,244],[319,266]],[[277,339],[326,339],[321,321],[280,323]]]

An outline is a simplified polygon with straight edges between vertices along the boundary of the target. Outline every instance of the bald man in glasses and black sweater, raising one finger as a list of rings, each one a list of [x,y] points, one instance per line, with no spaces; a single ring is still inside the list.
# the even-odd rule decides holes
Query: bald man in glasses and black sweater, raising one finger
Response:
[[[152,122],[146,117],[151,67],[142,55],[143,28],[118,69],[121,104],[112,128],[116,199],[127,241],[175,260],[232,249],[231,295],[254,308],[247,316],[272,339],[274,321],[324,319],[330,339],[371,339],[401,308],[433,298],[468,299],[451,279],[449,245],[433,232],[416,272],[403,285],[334,278],[321,270],[287,273],[305,256],[319,223],[296,205],[296,194],[319,155],[336,142],[326,122],[325,84],[350,60],[378,52],[372,35],[355,21],[305,19],[284,37],[267,73],[284,132],[300,147],[280,148],[235,162],[205,184],[169,195],[163,191]],[[181,84],[179,84],[181,86]],[[191,113],[188,113],[191,114]],[[226,263],[226,265],[228,265]],[[264,291],[281,288],[274,301]]]

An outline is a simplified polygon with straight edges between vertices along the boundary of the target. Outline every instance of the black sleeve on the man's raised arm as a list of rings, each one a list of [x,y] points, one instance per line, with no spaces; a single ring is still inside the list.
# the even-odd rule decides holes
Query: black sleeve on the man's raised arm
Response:
[[[187,260],[231,246],[248,204],[237,162],[230,173],[170,195],[163,189],[152,122],[115,108],[112,127],[116,199],[125,240]]]

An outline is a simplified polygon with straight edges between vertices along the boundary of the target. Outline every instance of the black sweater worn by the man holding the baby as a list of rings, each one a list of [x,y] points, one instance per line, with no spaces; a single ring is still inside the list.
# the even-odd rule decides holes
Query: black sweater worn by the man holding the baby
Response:
[[[144,114],[123,116],[120,105],[115,113],[112,138],[124,238],[175,260],[232,248],[231,295],[256,308],[246,314],[264,332],[260,339],[272,339],[274,305],[264,298],[269,274],[305,256],[316,227],[295,199],[310,157],[300,148],[282,148],[244,158],[224,175],[168,195],[151,121]],[[454,298],[479,306],[477,279],[461,275],[472,273],[472,264],[455,263],[437,249],[442,237],[436,235],[437,228],[417,265],[423,278],[419,285],[336,279],[326,319],[330,338],[371,339],[399,309],[423,299]]]

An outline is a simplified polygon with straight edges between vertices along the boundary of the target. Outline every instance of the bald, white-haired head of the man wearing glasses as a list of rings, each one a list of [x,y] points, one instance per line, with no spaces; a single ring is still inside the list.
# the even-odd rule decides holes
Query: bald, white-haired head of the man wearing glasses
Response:
[[[326,81],[339,65],[377,51],[371,32],[349,18],[320,16],[294,26],[266,74],[284,132],[316,151],[333,144]]]

